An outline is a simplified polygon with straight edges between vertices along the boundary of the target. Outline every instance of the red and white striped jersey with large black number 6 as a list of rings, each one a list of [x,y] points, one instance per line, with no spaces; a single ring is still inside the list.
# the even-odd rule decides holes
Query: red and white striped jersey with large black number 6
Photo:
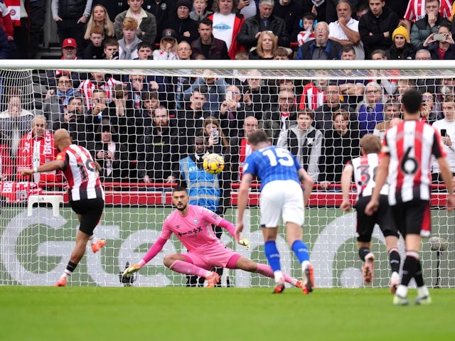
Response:
[[[382,151],[390,155],[389,203],[429,200],[432,155],[445,157],[439,133],[422,121],[404,121],[387,130]]]

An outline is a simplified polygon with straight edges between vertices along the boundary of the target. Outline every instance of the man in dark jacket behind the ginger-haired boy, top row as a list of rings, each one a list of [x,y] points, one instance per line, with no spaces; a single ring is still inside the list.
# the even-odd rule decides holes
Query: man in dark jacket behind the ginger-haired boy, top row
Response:
[[[124,18],[131,17],[137,19],[138,29],[137,38],[153,45],[156,36],[156,18],[152,13],[141,8],[144,0],[128,0],[129,9],[119,13],[114,20],[114,31],[117,39],[123,38],[122,23]]]

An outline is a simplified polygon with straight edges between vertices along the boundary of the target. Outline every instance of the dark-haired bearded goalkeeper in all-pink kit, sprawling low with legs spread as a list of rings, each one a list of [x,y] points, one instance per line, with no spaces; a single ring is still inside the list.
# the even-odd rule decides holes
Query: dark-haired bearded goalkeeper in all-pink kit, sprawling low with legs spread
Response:
[[[174,233],[183,246],[188,249],[188,253],[168,254],[164,256],[164,265],[181,274],[205,277],[208,288],[213,288],[220,281],[220,275],[215,271],[209,271],[215,266],[241,269],[274,278],[270,266],[258,264],[240,256],[237,252],[225,247],[220,239],[215,237],[212,224],[224,227],[235,238],[235,226],[232,223],[204,207],[188,205],[189,198],[186,188],[176,187],[173,190],[172,201],[177,210],[168,215],[164,221],[161,235],[144,258],[139,261],[139,264],[129,266],[124,271],[123,276],[130,276],[151,261],[163,249],[171,234]],[[236,240],[245,247],[250,246],[247,239]],[[284,278],[287,283],[301,288],[301,281],[296,278],[287,275]]]

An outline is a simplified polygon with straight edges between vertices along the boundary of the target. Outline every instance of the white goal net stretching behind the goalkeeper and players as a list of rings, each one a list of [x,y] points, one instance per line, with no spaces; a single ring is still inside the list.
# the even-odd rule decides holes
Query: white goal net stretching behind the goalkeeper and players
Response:
[[[338,209],[343,166],[360,155],[361,136],[382,138],[393,118],[400,117],[398,103],[405,90],[415,87],[424,94],[422,116],[431,124],[444,118],[444,99],[455,92],[455,64],[427,60],[426,65],[301,60],[28,62],[0,63],[0,285],[53,285],[75,245],[79,223],[68,205],[65,179],[58,173],[21,176],[23,168],[53,160],[50,133],[55,129],[68,129],[73,141],[102,165],[106,191],[105,213],[95,235],[107,244],[96,254],[87,247],[70,278],[72,286],[122,285],[119,273],[127,262],[135,264],[144,256],[173,210],[172,187],[188,185],[190,173],[198,172],[197,160],[196,168],[186,169],[184,158],[223,154],[225,169],[208,186],[217,189],[216,198],[201,205],[235,223],[242,162],[250,153],[245,136],[264,129],[273,144],[298,156],[316,184],[303,229],[316,286],[363,287],[355,210]],[[41,115],[47,133],[32,129]],[[303,129],[302,121],[315,129]],[[455,140],[452,124],[438,129]],[[334,131],[346,138],[336,139]],[[196,136],[205,137],[203,151]],[[455,173],[455,152],[448,153]],[[454,288],[454,218],[444,210],[446,194],[436,167],[433,175],[433,239],[423,242],[424,278],[429,286]],[[354,202],[355,184],[352,190]],[[242,235],[250,239],[250,249],[235,244],[227,231],[220,238],[242,256],[265,264],[258,199],[255,183]],[[378,227],[372,244],[376,264],[371,285],[386,288],[390,266]],[[299,278],[300,265],[283,229],[277,247],[284,271]],[[186,286],[186,276],[163,264],[165,254],[181,252],[186,249],[173,236],[141,269],[134,286]],[[402,238],[400,252],[404,259]],[[258,274],[227,269],[221,283],[273,285]]]

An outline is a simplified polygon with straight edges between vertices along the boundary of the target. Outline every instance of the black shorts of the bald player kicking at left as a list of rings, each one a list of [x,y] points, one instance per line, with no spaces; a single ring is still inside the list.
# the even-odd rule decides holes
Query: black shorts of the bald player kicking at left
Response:
[[[80,215],[79,229],[91,236],[97,224],[100,223],[105,200],[96,198],[70,201],[70,206],[77,215]]]

